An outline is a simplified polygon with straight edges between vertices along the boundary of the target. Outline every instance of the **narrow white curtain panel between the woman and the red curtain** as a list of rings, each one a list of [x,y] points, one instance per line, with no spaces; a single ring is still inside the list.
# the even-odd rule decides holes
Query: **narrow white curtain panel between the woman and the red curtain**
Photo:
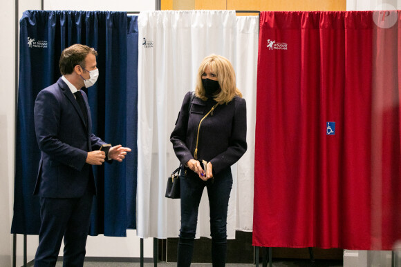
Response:
[[[247,104],[248,150],[236,164],[236,230],[252,231],[259,17],[236,18],[236,86]],[[233,168],[234,169],[234,166]],[[233,171],[234,173],[234,171]]]

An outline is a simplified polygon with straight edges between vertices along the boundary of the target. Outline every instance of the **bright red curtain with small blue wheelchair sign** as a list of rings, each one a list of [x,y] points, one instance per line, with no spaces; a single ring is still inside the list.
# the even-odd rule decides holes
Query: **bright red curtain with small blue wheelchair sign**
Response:
[[[390,15],[384,27],[369,11],[261,12],[254,246],[401,239],[401,12]]]

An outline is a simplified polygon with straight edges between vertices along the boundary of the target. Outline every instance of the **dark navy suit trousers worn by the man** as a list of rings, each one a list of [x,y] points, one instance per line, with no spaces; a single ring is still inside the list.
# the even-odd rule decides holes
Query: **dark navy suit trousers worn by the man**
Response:
[[[64,237],[63,266],[84,266],[93,192],[79,198],[40,198],[41,227],[35,267],[55,266]]]

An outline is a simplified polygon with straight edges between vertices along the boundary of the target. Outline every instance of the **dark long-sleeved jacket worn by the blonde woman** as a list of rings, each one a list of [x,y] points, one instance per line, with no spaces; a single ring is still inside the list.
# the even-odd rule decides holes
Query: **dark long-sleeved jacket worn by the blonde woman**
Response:
[[[178,114],[176,128],[170,136],[174,152],[183,166],[189,159],[194,159],[199,122],[216,104],[211,98],[203,101],[194,97],[188,114],[190,99],[191,93],[187,92]],[[216,175],[238,161],[246,149],[246,102],[245,99],[236,96],[229,103],[218,105],[202,121],[198,139],[198,160],[210,161]]]

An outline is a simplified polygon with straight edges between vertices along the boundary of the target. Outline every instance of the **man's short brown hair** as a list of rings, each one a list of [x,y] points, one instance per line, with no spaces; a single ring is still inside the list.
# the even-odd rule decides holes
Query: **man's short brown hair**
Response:
[[[85,58],[88,54],[97,56],[95,48],[76,43],[63,50],[60,56],[60,72],[62,75],[69,75],[73,73],[75,66],[85,66]]]

